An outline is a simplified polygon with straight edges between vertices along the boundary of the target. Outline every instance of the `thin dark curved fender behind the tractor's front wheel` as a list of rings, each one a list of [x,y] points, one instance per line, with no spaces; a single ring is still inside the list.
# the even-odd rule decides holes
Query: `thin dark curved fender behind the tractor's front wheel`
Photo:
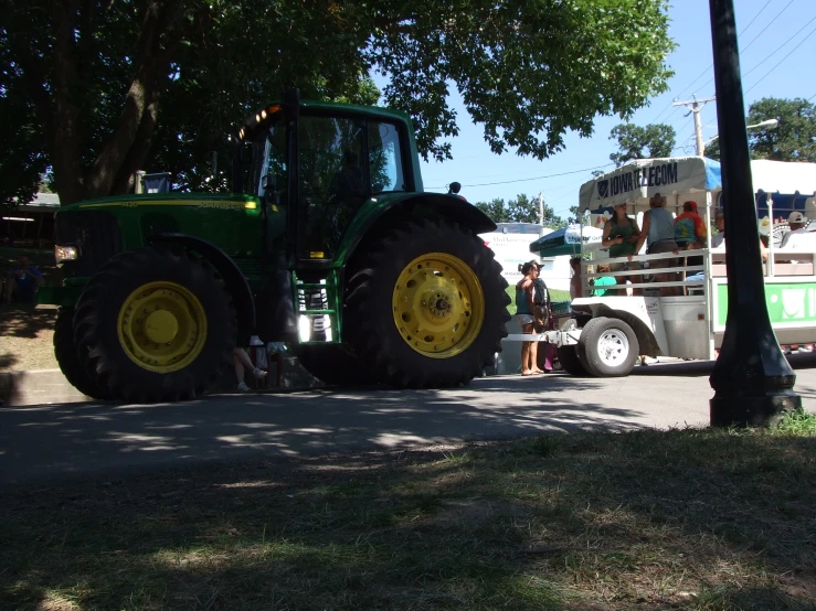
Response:
[[[239,322],[237,345],[250,345],[250,337],[255,329],[255,298],[250,283],[232,257],[211,242],[187,234],[158,234],[150,236],[149,242],[157,245],[173,244],[193,250],[215,268],[235,306]]]

